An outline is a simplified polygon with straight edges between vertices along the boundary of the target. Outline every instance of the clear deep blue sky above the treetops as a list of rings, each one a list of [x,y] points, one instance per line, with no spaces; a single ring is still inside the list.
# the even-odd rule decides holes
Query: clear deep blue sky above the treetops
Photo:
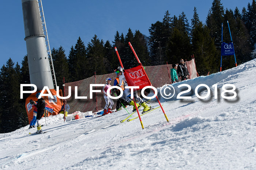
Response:
[[[171,16],[185,12],[189,23],[193,9],[197,8],[199,19],[205,23],[213,0],[42,0],[50,48],[62,46],[68,56],[80,36],[84,44],[94,34],[99,39],[112,41],[116,31],[127,34],[139,30],[149,35],[148,28],[156,21],[162,21],[165,12]],[[247,9],[252,0],[222,0],[224,9],[238,7]],[[11,58],[21,63],[27,54],[21,0],[1,1],[0,5],[0,67]]]

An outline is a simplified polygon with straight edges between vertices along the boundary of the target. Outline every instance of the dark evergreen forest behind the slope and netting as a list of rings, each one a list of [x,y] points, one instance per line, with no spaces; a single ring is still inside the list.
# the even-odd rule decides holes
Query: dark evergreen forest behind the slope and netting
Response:
[[[192,10],[192,9],[191,9]],[[128,42],[131,42],[143,66],[158,66],[178,63],[180,58],[191,60],[195,56],[198,74],[216,73],[220,69],[221,23],[223,23],[223,42],[233,39],[237,65],[255,58],[253,50],[256,43],[256,1],[248,3],[242,11],[224,9],[221,0],[213,0],[205,21],[199,19],[196,7],[193,8],[191,24],[184,12],[172,16],[169,11],[163,18],[151,24],[149,36],[139,30],[124,33],[116,31],[114,41],[100,40],[94,35],[89,43],[78,37],[75,46],[65,55],[63,47],[53,48],[52,59],[57,84],[75,82],[91,76],[112,73],[119,61],[114,50],[117,47],[126,69],[138,66]],[[86,40],[87,41],[87,40]],[[21,56],[22,57],[22,56]],[[235,66],[233,56],[222,56],[222,70]],[[27,56],[21,66],[8,59],[0,70],[0,133],[8,133],[29,124],[25,100],[20,99],[20,84],[30,84]],[[29,90],[29,89],[24,89]]]

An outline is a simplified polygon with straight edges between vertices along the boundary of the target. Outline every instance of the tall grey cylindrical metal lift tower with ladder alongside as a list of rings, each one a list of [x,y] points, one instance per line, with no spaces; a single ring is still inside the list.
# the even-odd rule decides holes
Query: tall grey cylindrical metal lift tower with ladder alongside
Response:
[[[30,83],[35,84],[37,90],[42,90],[44,86],[54,89],[57,84],[41,0],[22,0],[22,11]]]

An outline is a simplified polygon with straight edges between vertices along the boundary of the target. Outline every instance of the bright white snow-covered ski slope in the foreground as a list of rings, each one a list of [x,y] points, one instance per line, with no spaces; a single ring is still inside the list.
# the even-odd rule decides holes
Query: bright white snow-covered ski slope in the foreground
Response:
[[[125,110],[98,118],[63,122],[63,115],[42,118],[45,134],[29,126],[0,134],[0,169],[256,169],[256,59],[236,68],[183,83],[191,99],[161,99],[161,109],[131,122]],[[200,99],[199,84],[211,94]],[[214,88],[218,95],[215,99]],[[224,84],[236,86],[223,99]],[[159,89],[158,89],[159,90]],[[186,89],[185,89],[186,90]],[[202,91],[202,90],[201,90]],[[205,96],[207,91],[200,93]],[[225,95],[232,96],[232,93]],[[158,106],[155,100],[151,106]],[[131,112],[132,107],[128,107]],[[132,116],[136,116],[133,114]]]

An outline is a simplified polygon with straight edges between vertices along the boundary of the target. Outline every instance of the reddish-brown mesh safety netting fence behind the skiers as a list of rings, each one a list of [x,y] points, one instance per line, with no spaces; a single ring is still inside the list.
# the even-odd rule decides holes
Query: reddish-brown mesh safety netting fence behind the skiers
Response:
[[[192,59],[188,62],[185,62],[187,65],[188,72],[190,74],[190,79],[196,78],[196,65],[195,59]],[[172,65],[166,64],[161,66],[144,66],[144,70],[152,84],[153,87],[158,88],[162,87],[165,84],[171,84],[170,79],[170,69]],[[103,97],[103,92],[93,92],[93,98],[90,99],[90,84],[105,84],[106,78],[111,78],[111,85],[114,84],[114,79],[116,79],[116,73],[105,74],[105,75],[95,75],[90,78],[80,80],[77,82],[65,83],[65,96],[68,96],[68,86],[71,86],[71,97],[67,99],[67,103],[69,104],[70,110],[69,114],[80,111],[87,112],[93,111],[97,112],[102,110],[106,104],[105,99]],[[178,80],[180,81],[180,79]],[[78,96],[87,96],[87,99],[75,99],[75,86],[78,87]],[[93,87],[93,90],[101,90],[102,87]],[[138,91],[138,95],[140,96],[140,90]],[[112,94],[114,96],[114,94]],[[112,109],[116,108],[117,99],[114,100],[114,106]]]

